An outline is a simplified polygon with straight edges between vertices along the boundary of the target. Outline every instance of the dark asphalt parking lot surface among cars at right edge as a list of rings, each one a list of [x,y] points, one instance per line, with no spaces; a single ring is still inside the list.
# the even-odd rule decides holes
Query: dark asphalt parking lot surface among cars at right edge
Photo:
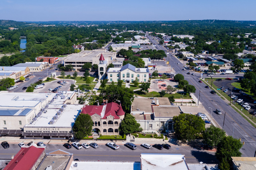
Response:
[[[231,83],[233,83],[233,82],[237,82],[237,81],[234,79],[232,79],[232,80],[222,79],[222,81],[214,81],[213,84],[216,85],[218,88],[224,86],[225,89],[228,89],[228,88],[234,87],[233,85],[231,85]],[[228,89],[228,92],[226,94],[230,94],[230,93],[231,93],[231,91]],[[236,92],[232,91],[232,95],[235,95],[238,97],[238,99],[243,99],[244,102],[249,103],[249,106],[251,106],[251,109],[248,110],[248,112],[252,112],[253,110],[256,109],[255,104],[253,104],[253,100],[251,99],[251,97],[243,95],[237,91]],[[232,100],[232,101],[234,101],[234,100]],[[236,104],[238,104],[238,103],[236,103]]]

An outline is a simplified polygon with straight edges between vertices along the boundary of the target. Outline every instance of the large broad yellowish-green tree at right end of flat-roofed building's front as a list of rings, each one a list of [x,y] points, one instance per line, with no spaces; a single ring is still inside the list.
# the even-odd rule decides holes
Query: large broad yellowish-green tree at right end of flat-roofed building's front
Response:
[[[205,129],[203,119],[196,115],[180,114],[179,116],[173,116],[172,120],[174,121],[175,134],[182,142],[195,139],[196,135],[202,133]]]

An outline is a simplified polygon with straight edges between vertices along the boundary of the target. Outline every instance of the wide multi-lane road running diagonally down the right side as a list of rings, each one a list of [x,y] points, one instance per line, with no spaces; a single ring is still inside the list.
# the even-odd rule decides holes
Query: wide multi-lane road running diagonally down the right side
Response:
[[[166,50],[164,47],[160,47],[160,45],[157,44],[155,40],[152,40],[152,37],[147,35],[147,37],[150,39],[150,41],[153,43],[153,45],[156,45],[158,50]],[[224,130],[226,131],[228,136],[232,136],[233,129],[234,129],[234,135],[233,137],[236,139],[241,138],[241,142],[245,142],[243,147],[241,148],[240,152],[243,154],[244,157],[254,157],[255,150],[256,150],[256,129],[247,122],[239,113],[237,113],[231,106],[228,105],[224,100],[222,100],[218,95],[213,95],[210,93],[209,89],[205,88],[204,83],[199,83],[199,73],[196,73],[195,76],[192,76],[191,74],[188,75],[187,72],[184,72],[182,70],[183,68],[183,62],[180,62],[177,57],[171,56],[171,53],[167,55],[167,61],[169,60],[170,63],[176,63],[172,64],[172,67],[176,71],[176,73],[180,73],[184,76],[184,78],[188,81],[190,85],[194,85],[196,87],[196,92],[194,93],[195,96],[198,98],[199,91],[200,92],[200,102],[204,106],[204,108],[208,111],[208,113],[211,115],[212,111],[212,117],[216,120],[216,122],[219,124],[220,128],[223,127],[224,122],[224,116],[225,116],[225,123],[224,123]],[[180,62],[180,64],[177,64]],[[218,75],[218,77],[227,77],[227,75]],[[229,75],[232,76],[242,76],[241,74],[238,75]],[[215,76],[214,76],[215,77]],[[217,76],[216,76],[217,77]],[[196,101],[197,102],[197,101]],[[211,108],[209,108],[211,107]],[[222,115],[217,115],[215,113],[216,109],[220,109],[222,112]]]

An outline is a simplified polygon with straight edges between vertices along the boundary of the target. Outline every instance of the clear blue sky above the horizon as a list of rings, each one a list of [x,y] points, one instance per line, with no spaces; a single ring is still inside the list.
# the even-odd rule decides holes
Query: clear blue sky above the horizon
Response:
[[[16,21],[256,20],[255,0],[1,0]]]

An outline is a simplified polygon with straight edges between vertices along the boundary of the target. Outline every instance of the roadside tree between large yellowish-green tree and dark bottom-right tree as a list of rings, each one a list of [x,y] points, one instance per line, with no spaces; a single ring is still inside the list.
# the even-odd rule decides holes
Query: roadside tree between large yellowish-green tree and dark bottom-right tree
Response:
[[[206,128],[203,132],[204,144],[211,146],[212,148],[216,147],[217,144],[220,143],[223,137],[225,137],[226,133],[224,130],[220,128],[216,128],[214,126],[210,126]]]

